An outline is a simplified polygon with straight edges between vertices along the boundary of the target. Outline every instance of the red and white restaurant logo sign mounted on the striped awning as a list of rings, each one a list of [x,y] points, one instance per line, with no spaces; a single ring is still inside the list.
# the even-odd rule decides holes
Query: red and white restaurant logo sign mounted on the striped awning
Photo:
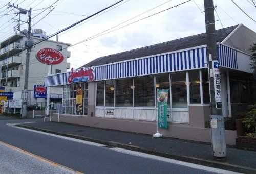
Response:
[[[80,69],[74,70],[74,68],[71,69],[71,73],[68,76],[68,82],[91,82],[95,79],[95,73],[94,73],[95,67],[90,68],[84,68],[81,67]]]

